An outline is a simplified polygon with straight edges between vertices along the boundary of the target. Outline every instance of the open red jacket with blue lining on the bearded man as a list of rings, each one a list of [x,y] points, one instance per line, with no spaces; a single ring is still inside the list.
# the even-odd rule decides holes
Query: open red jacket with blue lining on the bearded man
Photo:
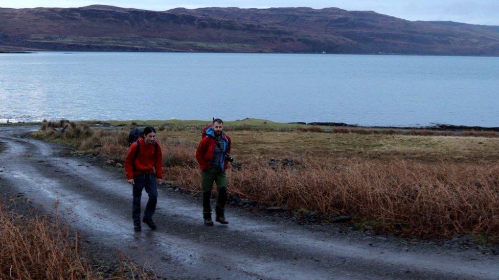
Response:
[[[231,138],[222,132],[223,146],[222,156],[220,157],[220,168],[225,171],[229,167],[229,161],[223,156],[226,154],[231,154]],[[213,128],[209,128],[206,131],[206,137],[203,137],[197,145],[196,149],[196,160],[199,164],[201,170],[206,170],[211,168],[211,162],[215,156],[215,146],[217,145],[217,140]]]

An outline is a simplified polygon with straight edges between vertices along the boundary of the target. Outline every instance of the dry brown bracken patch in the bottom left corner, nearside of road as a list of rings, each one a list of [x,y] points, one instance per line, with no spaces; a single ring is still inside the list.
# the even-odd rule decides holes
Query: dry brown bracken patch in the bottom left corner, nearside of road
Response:
[[[47,217],[0,208],[1,279],[81,279],[95,276],[81,258],[78,235]]]

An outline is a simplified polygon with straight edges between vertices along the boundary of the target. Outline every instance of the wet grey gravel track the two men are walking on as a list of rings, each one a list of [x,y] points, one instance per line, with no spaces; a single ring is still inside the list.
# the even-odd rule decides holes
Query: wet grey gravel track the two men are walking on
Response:
[[[131,186],[60,147],[0,128],[0,183],[57,211],[103,251],[116,248],[160,276],[182,278],[386,279],[499,278],[499,257],[478,250],[412,244],[345,233],[335,226],[299,226],[290,219],[229,208],[230,224],[202,224],[198,198],[158,190],[157,231],[133,232]],[[144,192],[142,206],[147,195]]]

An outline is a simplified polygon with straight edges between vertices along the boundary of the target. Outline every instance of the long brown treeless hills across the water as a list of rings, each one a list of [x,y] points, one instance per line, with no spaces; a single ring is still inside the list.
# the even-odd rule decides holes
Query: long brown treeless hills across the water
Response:
[[[499,27],[338,8],[0,9],[0,46],[46,50],[499,55]]]

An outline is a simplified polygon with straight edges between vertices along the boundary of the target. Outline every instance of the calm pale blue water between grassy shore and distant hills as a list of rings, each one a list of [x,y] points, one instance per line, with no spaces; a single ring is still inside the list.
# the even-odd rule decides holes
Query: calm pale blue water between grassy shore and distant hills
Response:
[[[0,122],[245,117],[499,126],[499,58],[0,54]]]

